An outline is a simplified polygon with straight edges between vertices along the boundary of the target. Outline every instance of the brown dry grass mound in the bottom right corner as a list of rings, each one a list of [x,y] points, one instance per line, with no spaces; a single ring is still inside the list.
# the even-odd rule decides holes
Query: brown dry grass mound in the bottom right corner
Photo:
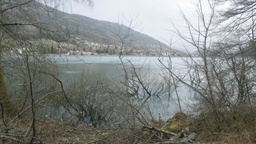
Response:
[[[196,118],[194,126],[202,143],[256,143],[256,113],[235,109],[221,113],[222,116],[210,114]]]

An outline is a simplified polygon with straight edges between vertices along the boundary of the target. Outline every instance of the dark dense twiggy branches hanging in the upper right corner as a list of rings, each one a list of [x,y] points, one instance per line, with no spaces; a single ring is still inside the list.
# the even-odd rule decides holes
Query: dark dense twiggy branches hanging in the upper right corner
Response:
[[[224,36],[232,36],[234,33],[240,33],[240,39],[242,39],[240,45],[245,45],[245,48],[241,49],[240,53],[247,53],[248,56],[255,58],[255,1],[226,0],[217,2],[229,2],[230,5],[229,9],[218,12],[220,16],[216,23],[222,26],[220,33]]]

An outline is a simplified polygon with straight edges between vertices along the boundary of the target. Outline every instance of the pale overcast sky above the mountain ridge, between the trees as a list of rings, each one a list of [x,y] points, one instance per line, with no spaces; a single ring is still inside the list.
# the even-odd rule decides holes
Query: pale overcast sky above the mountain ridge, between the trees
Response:
[[[136,19],[135,30],[168,44],[172,35],[172,23],[179,26],[184,23],[180,9],[193,17],[195,4],[191,0],[94,0],[94,7],[90,9],[84,5],[73,3],[72,8],[65,8],[66,12],[85,15],[98,20],[118,23],[122,15],[126,19]],[[177,40],[177,38],[175,38]]]

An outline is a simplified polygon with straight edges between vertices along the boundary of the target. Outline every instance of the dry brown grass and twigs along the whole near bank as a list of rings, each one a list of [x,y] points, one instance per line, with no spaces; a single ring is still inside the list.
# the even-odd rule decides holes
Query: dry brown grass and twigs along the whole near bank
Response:
[[[230,111],[224,117],[213,113],[193,120],[191,130],[198,134],[196,141],[201,143],[256,143],[256,111]],[[223,113],[222,113],[223,114]],[[222,115],[221,114],[221,115]],[[8,118],[6,118],[8,120]],[[166,121],[152,122],[156,128]],[[100,128],[72,123],[51,121],[49,118],[36,118],[35,143],[154,143],[151,133],[141,130],[141,125],[104,125]],[[31,117],[20,117],[8,125],[12,128],[4,132],[5,125],[0,121],[1,142],[27,143],[31,138]]]

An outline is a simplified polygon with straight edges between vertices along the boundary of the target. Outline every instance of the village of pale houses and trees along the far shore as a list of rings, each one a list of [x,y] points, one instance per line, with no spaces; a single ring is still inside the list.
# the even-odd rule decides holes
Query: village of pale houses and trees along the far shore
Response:
[[[111,44],[99,44],[88,41],[83,41],[84,45],[72,45],[72,46],[45,46],[47,48],[43,49],[46,54],[65,54],[66,56],[92,56],[92,55],[105,55],[105,56],[118,56],[120,53],[124,56],[166,56],[166,57],[186,57],[188,54],[172,52],[172,50],[156,50],[156,49],[143,49],[143,48],[133,48],[130,46],[111,45]],[[159,46],[160,47],[160,46]],[[31,49],[13,49],[20,54],[25,51],[30,51]],[[121,52],[122,50],[122,52]],[[170,52],[171,51],[171,52]],[[198,54],[191,54],[192,57],[198,57]]]

